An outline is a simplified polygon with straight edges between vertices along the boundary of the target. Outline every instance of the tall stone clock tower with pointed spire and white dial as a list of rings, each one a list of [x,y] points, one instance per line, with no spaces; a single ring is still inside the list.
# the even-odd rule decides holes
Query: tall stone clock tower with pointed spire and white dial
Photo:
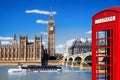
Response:
[[[55,54],[55,22],[52,11],[50,13],[50,20],[48,21],[48,53],[50,56],[54,56]]]

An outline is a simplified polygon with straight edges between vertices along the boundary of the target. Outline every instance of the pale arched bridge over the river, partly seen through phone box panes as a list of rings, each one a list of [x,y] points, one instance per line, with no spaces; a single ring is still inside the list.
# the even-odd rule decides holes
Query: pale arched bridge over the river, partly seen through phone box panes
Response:
[[[100,51],[104,53],[103,51]],[[99,54],[99,56],[105,56],[105,54]],[[74,54],[71,56],[66,56],[63,58],[64,65],[77,67],[80,69],[91,69],[92,67],[92,52],[82,53],[82,54]],[[103,64],[105,62],[105,58],[101,57],[99,59],[100,63]]]

